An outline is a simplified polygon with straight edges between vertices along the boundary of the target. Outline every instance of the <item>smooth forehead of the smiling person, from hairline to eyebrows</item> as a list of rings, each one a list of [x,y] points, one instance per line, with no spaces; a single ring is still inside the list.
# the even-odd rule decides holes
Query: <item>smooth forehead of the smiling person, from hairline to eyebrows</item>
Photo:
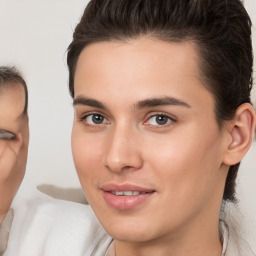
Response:
[[[110,93],[113,90],[117,97],[121,96],[120,90],[123,95],[142,89],[145,96],[147,92],[171,92],[184,97],[190,97],[191,91],[209,92],[203,85],[199,54],[193,43],[152,38],[86,46],[78,59],[74,86],[75,97],[85,91],[98,94],[97,97],[102,91]]]

